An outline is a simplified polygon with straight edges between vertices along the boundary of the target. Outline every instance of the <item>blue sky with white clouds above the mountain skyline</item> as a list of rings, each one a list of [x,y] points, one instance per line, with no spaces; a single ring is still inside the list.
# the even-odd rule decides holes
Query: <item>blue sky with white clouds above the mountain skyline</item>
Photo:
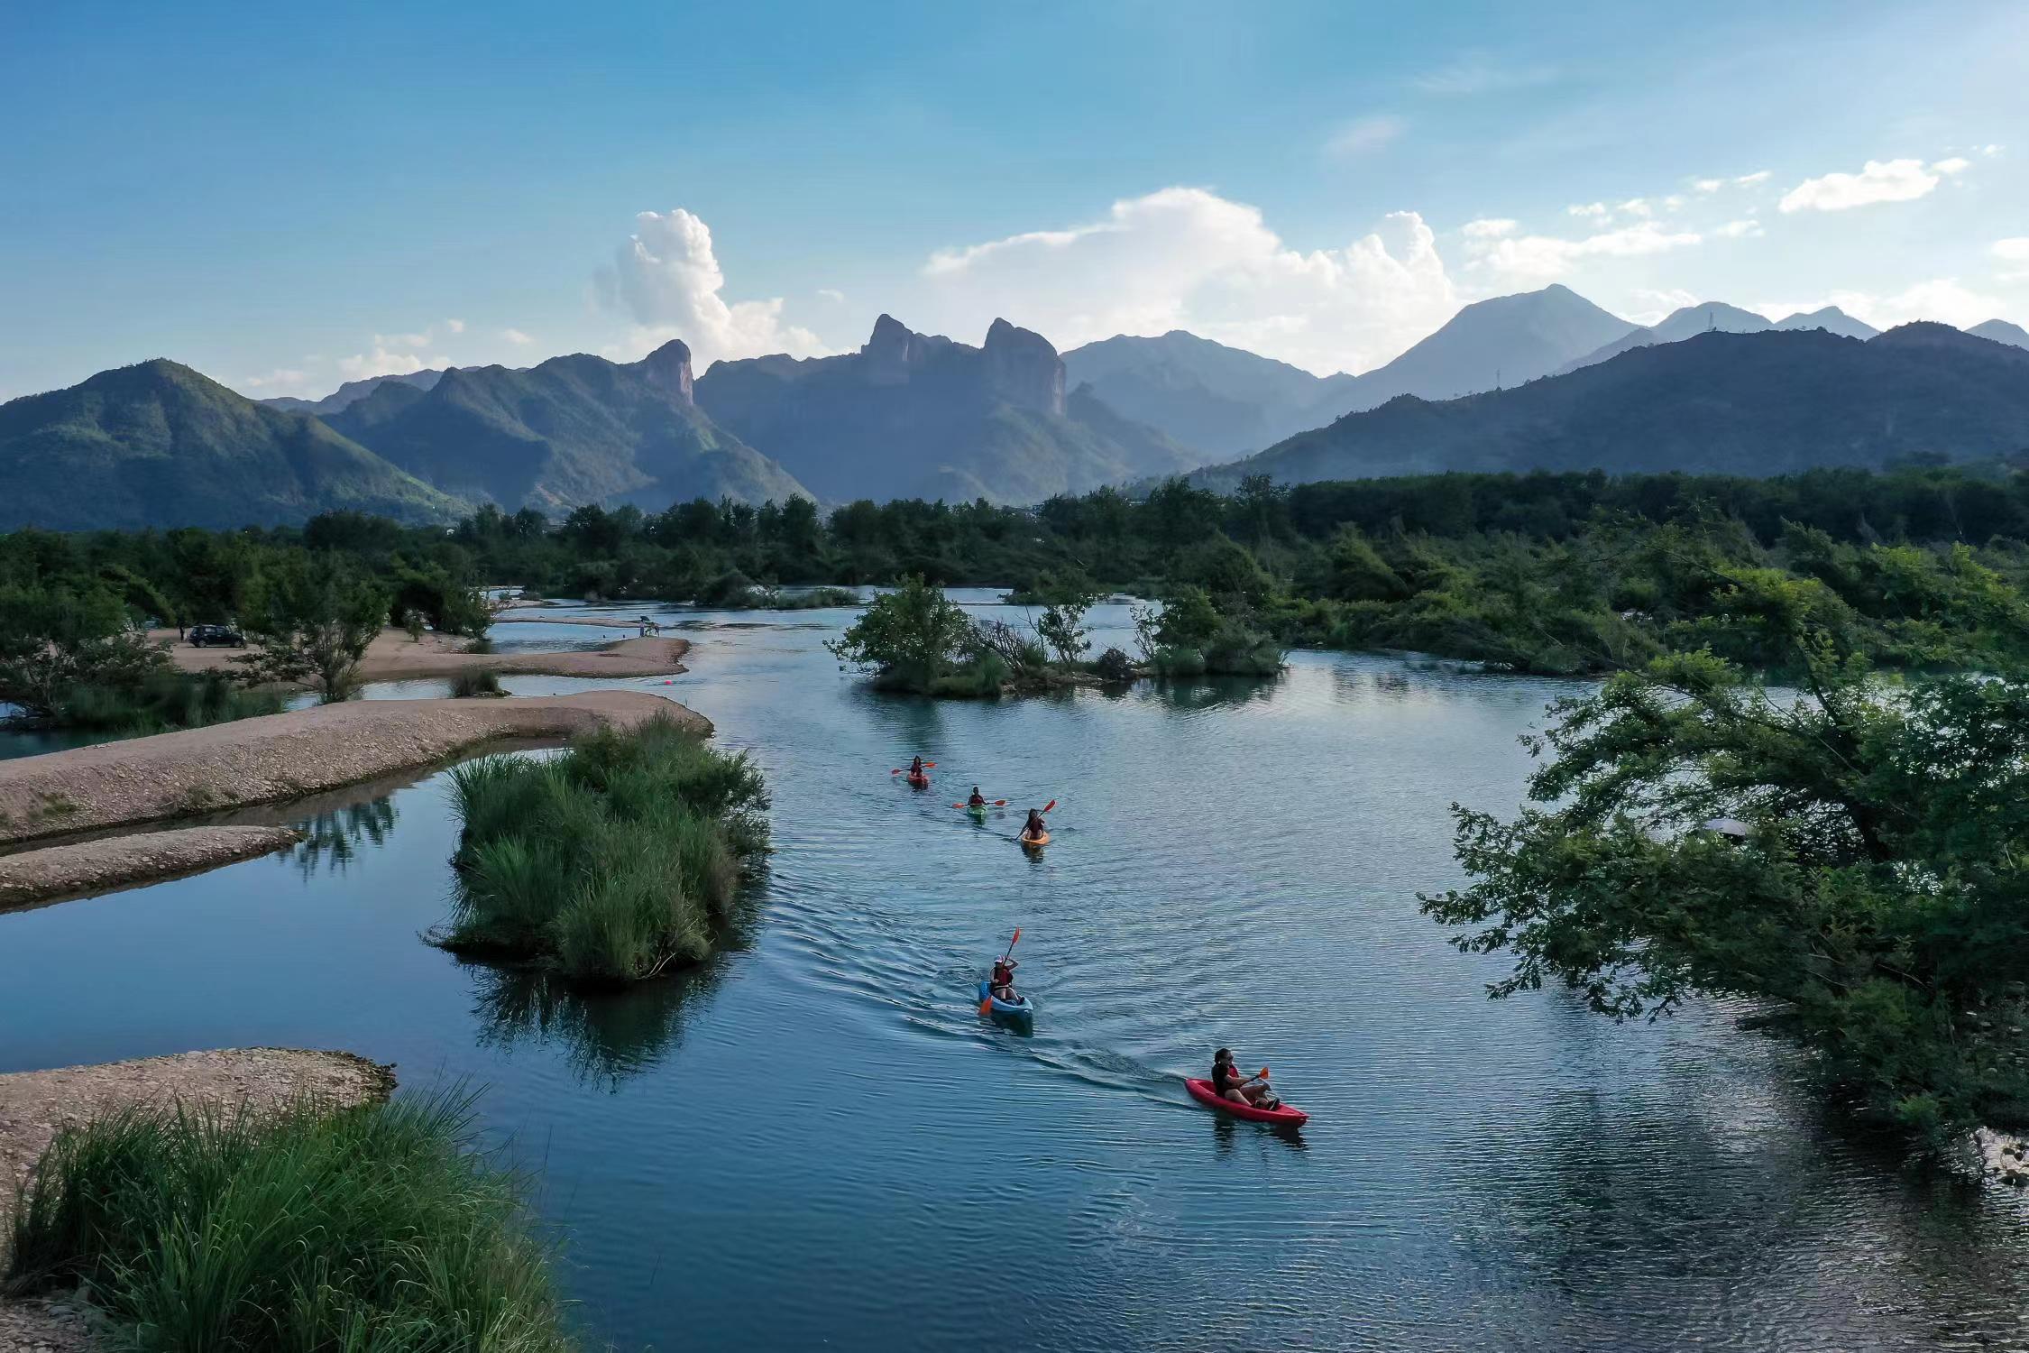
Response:
[[[1546,282],[2029,323],[2025,65],[2011,0],[10,0],[0,398],[702,365],[881,310],[1363,369]]]

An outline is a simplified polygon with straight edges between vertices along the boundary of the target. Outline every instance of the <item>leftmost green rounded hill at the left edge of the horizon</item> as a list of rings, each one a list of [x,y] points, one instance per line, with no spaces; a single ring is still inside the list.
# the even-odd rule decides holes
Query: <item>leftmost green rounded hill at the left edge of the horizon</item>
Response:
[[[0,404],[0,529],[233,529],[339,509],[432,521],[467,507],[317,418],[160,357]]]

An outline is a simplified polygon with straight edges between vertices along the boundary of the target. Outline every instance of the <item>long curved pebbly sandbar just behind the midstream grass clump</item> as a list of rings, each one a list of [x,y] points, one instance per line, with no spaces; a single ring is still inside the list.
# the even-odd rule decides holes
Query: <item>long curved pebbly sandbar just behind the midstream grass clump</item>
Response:
[[[515,700],[353,700],[150,738],[0,761],[0,844],[294,799],[487,742],[564,740],[657,714],[710,720],[641,690]]]

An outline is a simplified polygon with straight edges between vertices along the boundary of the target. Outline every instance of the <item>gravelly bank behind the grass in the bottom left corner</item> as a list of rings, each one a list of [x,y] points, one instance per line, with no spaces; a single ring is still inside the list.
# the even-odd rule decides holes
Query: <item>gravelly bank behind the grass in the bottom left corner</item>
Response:
[[[14,1189],[63,1126],[134,1103],[243,1103],[264,1112],[302,1097],[367,1103],[386,1099],[392,1089],[392,1067],[351,1053],[276,1047],[0,1075],[0,1233]],[[0,1302],[0,1349],[77,1353],[89,1347],[85,1319],[67,1300]]]

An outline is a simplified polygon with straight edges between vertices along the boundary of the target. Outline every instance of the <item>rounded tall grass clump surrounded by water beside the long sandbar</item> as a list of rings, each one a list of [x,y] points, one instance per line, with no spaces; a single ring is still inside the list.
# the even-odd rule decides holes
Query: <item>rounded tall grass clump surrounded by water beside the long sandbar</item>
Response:
[[[767,852],[761,771],[666,718],[603,728],[548,761],[469,761],[452,785],[459,880],[436,943],[572,982],[619,986],[704,959]]]

